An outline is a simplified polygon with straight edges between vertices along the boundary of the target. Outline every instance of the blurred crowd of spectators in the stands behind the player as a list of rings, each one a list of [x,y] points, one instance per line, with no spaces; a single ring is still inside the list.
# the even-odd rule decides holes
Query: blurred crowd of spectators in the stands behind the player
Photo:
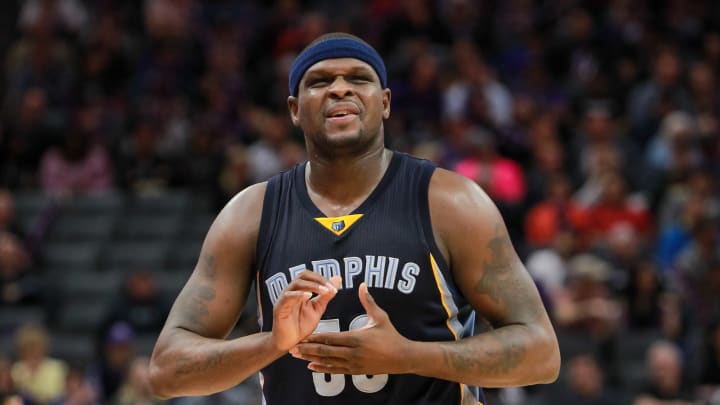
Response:
[[[488,192],[558,330],[560,381],[489,390],[491,404],[720,404],[720,3],[0,7],[2,311],[53,306],[42,230],[14,220],[14,194],[187,189],[217,210],[305,159],[287,72],[312,39],[346,31],[385,58],[387,145]],[[146,306],[162,319],[162,305]],[[3,404],[158,402],[147,358],[122,351],[137,327],[124,318],[108,317],[99,366],[54,359],[42,325],[19,328],[0,355]]]

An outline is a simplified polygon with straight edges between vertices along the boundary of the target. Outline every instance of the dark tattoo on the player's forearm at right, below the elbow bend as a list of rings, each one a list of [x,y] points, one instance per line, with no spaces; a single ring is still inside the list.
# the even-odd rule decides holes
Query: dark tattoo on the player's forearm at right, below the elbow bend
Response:
[[[445,346],[445,362],[459,371],[471,369],[490,374],[507,374],[517,368],[525,359],[527,348],[517,341],[513,332],[498,329],[486,335],[483,346]]]

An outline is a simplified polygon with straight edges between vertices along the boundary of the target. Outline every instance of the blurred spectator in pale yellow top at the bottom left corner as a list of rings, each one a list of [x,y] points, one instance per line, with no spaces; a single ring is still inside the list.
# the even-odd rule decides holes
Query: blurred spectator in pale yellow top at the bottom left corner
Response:
[[[32,403],[48,404],[65,394],[68,367],[48,356],[49,340],[39,325],[25,325],[16,333],[18,359],[12,366],[12,378],[18,392]]]

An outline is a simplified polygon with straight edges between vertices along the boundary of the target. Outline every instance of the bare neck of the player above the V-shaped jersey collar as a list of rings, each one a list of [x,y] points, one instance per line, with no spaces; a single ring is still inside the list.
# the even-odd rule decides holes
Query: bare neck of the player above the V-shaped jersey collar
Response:
[[[380,183],[392,155],[392,151],[380,148],[359,157],[311,158],[305,167],[308,194],[326,215],[347,215]]]

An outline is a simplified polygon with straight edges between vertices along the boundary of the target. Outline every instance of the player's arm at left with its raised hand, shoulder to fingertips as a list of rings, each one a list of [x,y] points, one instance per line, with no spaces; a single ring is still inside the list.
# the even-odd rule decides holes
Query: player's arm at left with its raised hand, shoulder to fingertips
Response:
[[[334,297],[336,290],[327,280],[303,272],[275,305],[274,316],[281,320],[272,332],[226,339],[253,282],[265,189],[266,184],[258,184],[239,193],[210,227],[152,354],[150,380],[156,396],[208,395],[239,384],[312,332],[315,318]],[[311,293],[319,295],[310,299]]]

